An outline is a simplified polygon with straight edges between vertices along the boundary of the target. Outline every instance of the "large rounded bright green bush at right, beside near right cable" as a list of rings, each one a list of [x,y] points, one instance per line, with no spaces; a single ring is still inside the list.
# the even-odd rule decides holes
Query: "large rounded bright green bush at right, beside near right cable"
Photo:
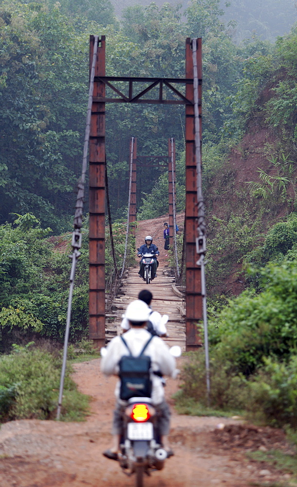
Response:
[[[265,356],[284,358],[296,350],[296,277],[295,262],[266,266],[264,290],[243,292],[210,323],[210,342],[242,373],[254,372]]]

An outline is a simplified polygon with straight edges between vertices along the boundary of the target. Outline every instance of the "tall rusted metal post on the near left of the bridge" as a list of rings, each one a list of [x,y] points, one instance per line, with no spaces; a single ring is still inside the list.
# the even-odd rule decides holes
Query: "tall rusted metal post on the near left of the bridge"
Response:
[[[90,59],[94,36],[90,36]],[[95,76],[105,76],[105,36],[99,39]],[[95,78],[90,132],[89,337],[105,345],[105,84]]]

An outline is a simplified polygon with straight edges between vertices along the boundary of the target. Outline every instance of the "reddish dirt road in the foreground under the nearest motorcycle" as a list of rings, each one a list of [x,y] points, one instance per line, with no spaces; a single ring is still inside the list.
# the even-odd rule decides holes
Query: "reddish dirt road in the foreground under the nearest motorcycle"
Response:
[[[116,379],[102,376],[99,362],[100,359],[94,359],[74,366],[74,379],[80,390],[92,396],[87,421],[22,420],[1,426],[1,487],[134,486],[133,477],[122,473],[117,462],[102,456],[110,442]],[[177,387],[177,381],[168,380],[168,398]],[[289,475],[246,458],[248,445],[244,444],[242,434],[245,427],[236,420],[177,415],[172,399],[169,402],[173,412],[170,438],[175,455],[167,460],[164,470],[145,479],[146,487],[270,486],[277,481],[286,485]],[[225,429],[218,430],[218,423],[224,423]],[[229,433],[224,433],[228,428]],[[282,433],[261,431],[252,431],[249,446],[272,448],[279,440],[278,446],[285,448]],[[243,438],[243,444],[238,438]]]

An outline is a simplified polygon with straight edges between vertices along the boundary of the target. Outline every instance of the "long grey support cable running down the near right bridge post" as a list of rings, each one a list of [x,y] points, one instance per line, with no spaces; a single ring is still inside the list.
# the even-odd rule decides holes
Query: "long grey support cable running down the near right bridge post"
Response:
[[[206,390],[207,401],[209,402],[210,381],[209,381],[209,356],[208,356],[208,331],[207,331],[207,309],[206,309],[206,285],[205,285],[205,211],[202,193],[202,164],[201,164],[201,139],[200,139],[200,117],[199,117],[199,96],[198,96],[198,68],[197,68],[197,39],[192,39],[193,56],[193,86],[194,86],[194,130],[195,130],[195,157],[197,168],[197,206],[198,206],[198,227],[196,237],[196,252],[199,255],[197,265],[201,266],[201,294],[204,322],[204,348],[205,348],[205,369],[206,369]]]

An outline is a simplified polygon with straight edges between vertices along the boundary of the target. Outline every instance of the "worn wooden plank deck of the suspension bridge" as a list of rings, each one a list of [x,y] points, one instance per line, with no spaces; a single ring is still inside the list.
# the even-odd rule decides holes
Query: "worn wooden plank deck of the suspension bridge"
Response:
[[[152,309],[158,311],[161,315],[169,316],[166,325],[168,337],[165,341],[169,346],[179,345],[185,351],[185,318],[181,316],[178,308],[178,306],[185,308],[185,301],[176,296],[172,289],[174,278],[166,275],[164,262],[160,262],[157,277],[150,284],[146,284],[145,281],[140,279],[138,269],[138,265],[130,267],[128,277],[123,281],[123,286],[120,289],[121,294],[113,300],[111,313],[106,315],[107,339],[110,340],[120,333],[122,315],[128,304],[132,300],[137,299],[138,293],[142,289],[148,289],[153,295]]]

